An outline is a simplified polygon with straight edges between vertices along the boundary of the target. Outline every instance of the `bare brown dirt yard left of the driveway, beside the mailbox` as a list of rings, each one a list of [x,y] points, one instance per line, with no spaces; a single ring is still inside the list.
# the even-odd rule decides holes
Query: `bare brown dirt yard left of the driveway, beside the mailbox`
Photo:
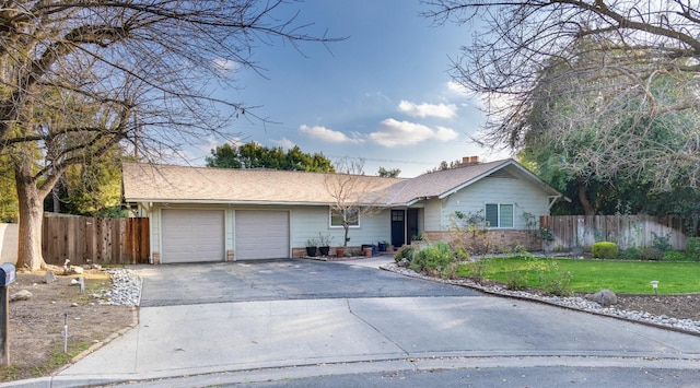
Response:
[[[32,293],[28,301],[10,302],[10,366],[0,366],[0,381],[47,376],[90,346],[98,346],[113,333],[136,324],[136,308],[100,305],[103,290],[110,290],[109,275],[90,270],[83,274],[85,292],[71,284],[77,275],[56,275],[45,283],[43,272],[18,272],[8,294]],[[68,322],[68,353],[63,353],[63,327]]]

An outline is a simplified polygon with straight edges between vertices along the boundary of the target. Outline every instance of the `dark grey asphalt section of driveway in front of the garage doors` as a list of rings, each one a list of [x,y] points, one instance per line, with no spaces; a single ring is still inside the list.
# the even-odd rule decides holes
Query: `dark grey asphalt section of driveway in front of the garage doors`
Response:
[[[387,262],[390,260],[385,259]],[[352,261],[258,260],[135,268],[144,280],[142,307],[253,301],[480,295],[467,289],[371,270]]]

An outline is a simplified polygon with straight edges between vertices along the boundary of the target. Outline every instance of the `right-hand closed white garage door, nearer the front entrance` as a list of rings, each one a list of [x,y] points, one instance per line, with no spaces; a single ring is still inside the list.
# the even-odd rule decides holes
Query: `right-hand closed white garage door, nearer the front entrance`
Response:
[[[236,260],[289,257],[289,212],[236,211]]]

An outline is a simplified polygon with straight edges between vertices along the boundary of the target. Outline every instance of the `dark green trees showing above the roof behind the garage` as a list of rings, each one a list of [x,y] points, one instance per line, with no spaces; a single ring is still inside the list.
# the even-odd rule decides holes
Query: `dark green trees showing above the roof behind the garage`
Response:
[[[241,146],[225,143],[211,150],[207,156],[208,167],[270,168],[311,173],[334,173],[330,160],[322,153],[307,154],[295,145],[284,152],[281,146],[267,148],[256,142]]]

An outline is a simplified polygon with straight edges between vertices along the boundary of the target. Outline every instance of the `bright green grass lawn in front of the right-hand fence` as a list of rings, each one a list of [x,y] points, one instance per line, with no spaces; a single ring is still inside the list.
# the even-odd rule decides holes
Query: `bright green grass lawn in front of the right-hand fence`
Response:
[[[619,294],[653,294],[650,282],[657,280],[660,294],[700,293],[700,262],[494,258],[488,260],[483,278],[506,283],[517,271],[526,286],[541,287],[538,270],[546,270],[548,260],[571,273],[574,292],[609,289]],[[470,277],[469,267],[459,266],[457,275]]]

